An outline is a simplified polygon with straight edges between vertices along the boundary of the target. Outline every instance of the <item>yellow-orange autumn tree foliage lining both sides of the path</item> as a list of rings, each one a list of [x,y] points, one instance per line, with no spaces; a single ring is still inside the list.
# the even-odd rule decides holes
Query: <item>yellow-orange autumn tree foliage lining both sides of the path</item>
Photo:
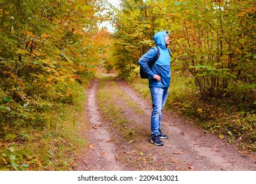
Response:
[[[255,143],[255,7],[254,0],[120,0],[113,16],[99,0],[0,0],[0,141],[24,141],[28,128],[51,129],[49,112],[74,104],[77,88],[98,69],[138,78],[153,35],[168,30],[173,74],[191,78],[205,102],[243,104],[253,114],[248,126],[237,119],[228,132]],[[110,18],[114,34],[99,29]],[[209,115],[207,109],[198,114]],[[7,157],[4,164],[20,170]]]

